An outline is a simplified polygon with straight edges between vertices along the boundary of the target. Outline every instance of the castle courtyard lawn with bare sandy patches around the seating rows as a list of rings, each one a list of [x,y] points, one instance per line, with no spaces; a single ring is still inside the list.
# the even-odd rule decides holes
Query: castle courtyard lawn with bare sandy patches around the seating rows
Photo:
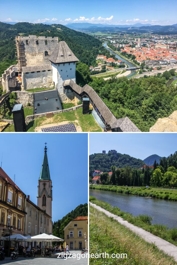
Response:
[[[50,119],[45,117],[36,118],[27,125],[27,132],[34,132],[35,127],[53,123],[60,123],[66,121],[67,123],[73,122],[75,125],[81,127],[83,132],[102,132],[101,127],[96,123],[92,114],[83,115],[82,108],[74,111],[57,113]],[[14,132],[14,125],[9,125],[4,132]]]

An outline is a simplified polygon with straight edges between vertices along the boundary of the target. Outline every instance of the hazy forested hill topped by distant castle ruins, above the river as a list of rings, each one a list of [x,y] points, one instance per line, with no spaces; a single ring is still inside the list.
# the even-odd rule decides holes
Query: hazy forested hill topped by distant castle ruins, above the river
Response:
[[[145,163],[141,159],[131,157],[125,154],[114,154],[108,152],[108,154],[93,154],[89,155],[89,175],[92,176],[94,170],[101,170],[103,172],[111,171],[111,166],[117,168],[124,168],[130,166],[132,168],[140,168]]]

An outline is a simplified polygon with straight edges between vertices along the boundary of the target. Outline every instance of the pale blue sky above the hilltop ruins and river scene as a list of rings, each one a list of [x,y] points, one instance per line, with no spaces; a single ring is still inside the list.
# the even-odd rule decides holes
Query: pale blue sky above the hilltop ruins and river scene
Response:
[[[177,133],[89,134],[89,154],[113,149],[142,160],[154,154],[167,157],[177,151]]]

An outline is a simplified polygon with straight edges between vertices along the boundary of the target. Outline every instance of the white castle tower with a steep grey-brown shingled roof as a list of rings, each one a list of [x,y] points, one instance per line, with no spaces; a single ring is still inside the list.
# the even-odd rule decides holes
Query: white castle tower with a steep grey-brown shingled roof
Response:
[[[49,60],[52,65],[53,85],[60,94],[64,94],[63,82],[67,79],[76,82],[76,62],[78,62],[78,58],[66,42],[61,41],[55,47]]]

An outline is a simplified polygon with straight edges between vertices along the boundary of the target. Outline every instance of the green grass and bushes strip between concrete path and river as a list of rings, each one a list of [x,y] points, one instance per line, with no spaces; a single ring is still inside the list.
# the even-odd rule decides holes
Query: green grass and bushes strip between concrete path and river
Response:
[[[135,226],[141,227],[142,229],[152,233],[155,236],[159,236],[164,240],[170,242],[171,244],[177,246],[177,228],[168,228],[162,224],[151,224],[152,217],[144,214],[139,216],[134,216],[131,213],[120,211],[120,208],[113,207],[109,203],[100,201],[93,196],[89,196],[89,201],[92,203],[104,208],[110,213],[114,213],[117,216],[122,217],[124,220],[127,220],[129,223],[134,224]]]

